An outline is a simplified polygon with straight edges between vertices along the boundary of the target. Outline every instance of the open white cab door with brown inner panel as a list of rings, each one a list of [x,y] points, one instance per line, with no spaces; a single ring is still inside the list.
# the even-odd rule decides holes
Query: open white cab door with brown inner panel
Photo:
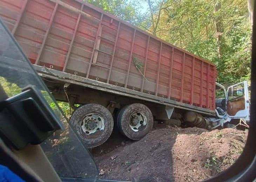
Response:
[[[237,83],[227,90],[227,114],[231,119],[249,121],[249,94],[247,81]]]

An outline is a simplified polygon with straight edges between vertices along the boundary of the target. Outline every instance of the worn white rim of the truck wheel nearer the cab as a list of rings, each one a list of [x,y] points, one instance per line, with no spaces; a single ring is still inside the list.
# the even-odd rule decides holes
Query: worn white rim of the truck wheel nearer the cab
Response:
[[[134,111],[129,117],[129,126],[135,132],[143,130],[146,124],[147,118],[141,111]]]

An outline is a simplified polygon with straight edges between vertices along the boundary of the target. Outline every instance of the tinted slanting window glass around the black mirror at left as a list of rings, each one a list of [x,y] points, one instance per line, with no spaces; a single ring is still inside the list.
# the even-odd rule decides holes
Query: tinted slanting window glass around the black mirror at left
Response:
[[[65,126],[45,140],[41,147],[60,177],[96,181],[98,170],[87,149],[76,137],[61,109],[41,78],[34,71],[20,46],[0,19],[0,84],[8,97],[32,85],[39,89],[55,115]],[[33,111],[32,111],[33,112]]]

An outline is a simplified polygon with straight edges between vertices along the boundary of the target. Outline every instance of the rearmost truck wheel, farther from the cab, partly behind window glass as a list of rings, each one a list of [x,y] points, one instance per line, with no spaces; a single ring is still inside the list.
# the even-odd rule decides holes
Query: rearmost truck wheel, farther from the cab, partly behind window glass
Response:
[[[71,118],[83,144],[93,148],[103,144],[113,131],[114,121],[107,108],[99,104],[86,104],[76,109]]]

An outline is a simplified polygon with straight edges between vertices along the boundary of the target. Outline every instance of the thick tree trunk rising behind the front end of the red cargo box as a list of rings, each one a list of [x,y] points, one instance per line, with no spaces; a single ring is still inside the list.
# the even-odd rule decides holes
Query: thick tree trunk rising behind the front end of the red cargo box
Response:
[[[217,17],[215,18],[216,42],[217,42],[218,56],[222,57],[224,46],[225,46],[225,38],[223,37],[224,27],[222,22],[222,16],[218,15],[218,11],[220,9],[221,9],[221,2],[220,0],[217,0],[215,4],[215,13],[217,13]]]

